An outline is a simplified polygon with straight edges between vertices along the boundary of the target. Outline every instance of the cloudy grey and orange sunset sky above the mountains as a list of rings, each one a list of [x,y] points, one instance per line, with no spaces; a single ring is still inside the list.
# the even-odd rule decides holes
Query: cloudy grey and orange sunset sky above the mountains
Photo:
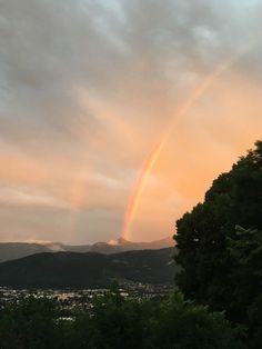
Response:
[[[114,239],[133,200],[127,239],[173,235],[261,139],[261,16],[262,0],[0,0],[0,241]]]

